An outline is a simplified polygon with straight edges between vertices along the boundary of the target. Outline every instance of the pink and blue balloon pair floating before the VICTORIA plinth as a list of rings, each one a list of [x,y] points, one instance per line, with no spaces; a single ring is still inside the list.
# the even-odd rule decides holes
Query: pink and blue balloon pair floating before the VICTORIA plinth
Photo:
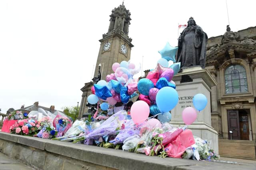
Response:
[[[193,96],[193,105],[196,109],[194,109],[193,107],[186,107],[182,111],[182,119],[186,125],[191,125],[196,120],[196,110],[200,112],[206,107],[206,96],[204,96],[204,94],[196,94],[195,96]]]

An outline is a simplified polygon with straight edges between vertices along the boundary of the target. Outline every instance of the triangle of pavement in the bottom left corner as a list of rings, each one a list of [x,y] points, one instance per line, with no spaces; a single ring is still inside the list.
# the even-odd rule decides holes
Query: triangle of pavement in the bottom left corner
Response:
[[[35,170],[0,152],[0,170]]]

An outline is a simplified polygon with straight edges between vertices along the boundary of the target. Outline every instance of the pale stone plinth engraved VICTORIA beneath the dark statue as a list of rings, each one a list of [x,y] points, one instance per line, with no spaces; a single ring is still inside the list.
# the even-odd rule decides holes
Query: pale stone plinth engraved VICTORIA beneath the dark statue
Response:
[[[201,67],[184,69],[172,79],[176,83],[176,90],[179,94],[179,102],[172,110],[171,124],[174,126],[184,126],[182,111],[186,107],[193,106],[193,96],[202,93],[206,96],[208,103],[204,110],[198,112],[198,117],[188,128],[193,135],[210,142],[210,146],[218,153],[218,133],[211,126],[211,87],[217,83],[210,72]]]

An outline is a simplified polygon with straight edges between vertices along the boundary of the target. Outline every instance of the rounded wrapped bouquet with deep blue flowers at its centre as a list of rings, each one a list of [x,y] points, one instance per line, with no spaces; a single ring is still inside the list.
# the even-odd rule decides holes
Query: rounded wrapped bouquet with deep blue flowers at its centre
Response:
[[[71,120],[68,117],[57,115],[53,120],[53,126],[58,131],[56,137],[62,137],[66,131],[72,126]]]

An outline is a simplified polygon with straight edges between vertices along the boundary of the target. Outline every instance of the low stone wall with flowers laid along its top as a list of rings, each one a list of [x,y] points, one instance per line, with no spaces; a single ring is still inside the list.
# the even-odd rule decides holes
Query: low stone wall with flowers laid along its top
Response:
[[[253,169],[253,164],[226,164],[160,158],[122,150],[52,141],[0,132],[0,152],[43,170],[195,170]]]

